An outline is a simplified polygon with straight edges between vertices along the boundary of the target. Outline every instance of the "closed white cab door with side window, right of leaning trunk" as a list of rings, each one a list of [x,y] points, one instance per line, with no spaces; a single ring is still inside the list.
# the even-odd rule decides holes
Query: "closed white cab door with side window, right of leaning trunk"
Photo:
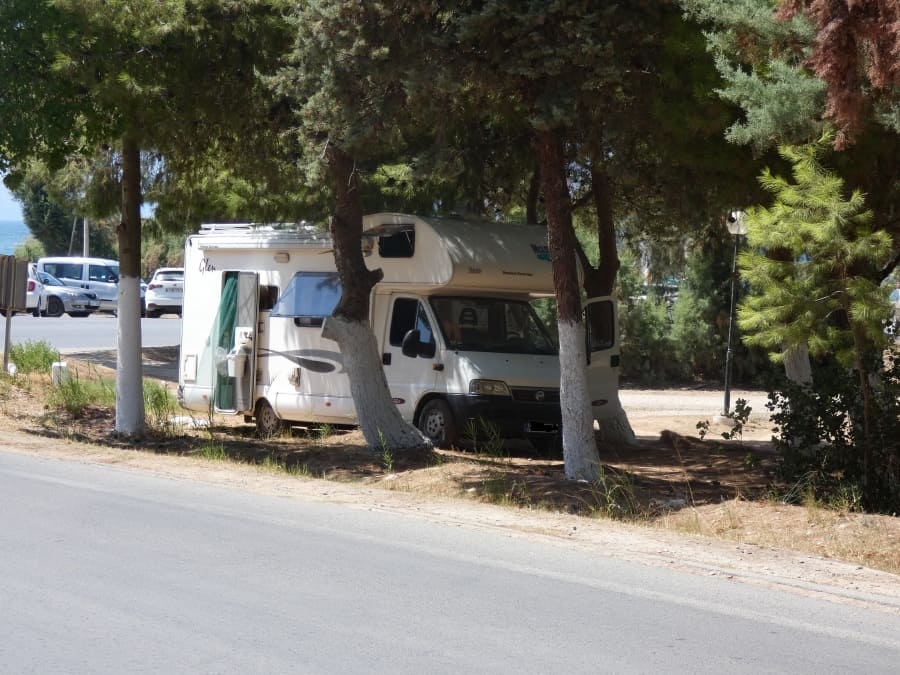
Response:
[[[434,326],[425,301],[415,296],[379,294],[375,296],[375,305],[375,316],[386,317],[381,336],[381,362],[391,397],[403,418],[412,420],[417,401],[435,388]],[[413,355],[408,355],[410,347],[407,346],[404,354],[403,341],[413,330],[418,331],[418,346]]]

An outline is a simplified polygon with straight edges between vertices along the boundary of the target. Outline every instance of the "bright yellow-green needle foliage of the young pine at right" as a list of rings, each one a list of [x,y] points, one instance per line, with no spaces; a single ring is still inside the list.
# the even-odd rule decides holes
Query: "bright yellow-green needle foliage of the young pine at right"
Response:
[[[770,207],[747,213],[750,246],[739,258],[750,293],[738,310],[745,341],[780,360],[785,347],[808,345],[810,354],[833,354],[855,367],[863,352],[884,346],[883,289],[874,281],[891,241],[872,228],[865,197],[845,197],[840,176],[821,155],[829,136],[803,146],[782,146],[792,179],[768,169],[760,177],[774,196]]]

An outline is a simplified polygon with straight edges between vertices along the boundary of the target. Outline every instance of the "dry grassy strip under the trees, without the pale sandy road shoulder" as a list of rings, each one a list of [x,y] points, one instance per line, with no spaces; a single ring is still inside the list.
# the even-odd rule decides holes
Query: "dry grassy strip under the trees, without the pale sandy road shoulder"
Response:
[[[79,377],[111,377],[102,366],[70,360]],[[810,500],[788,505],[773,499],[788,486],[774,483],[775,458],[765,430],[743,443],[699,441],[668,431],[638,448],[601,446],[605,483],[565,480],[559,459],[512,445],[498,452],[436,451],[426,456],[373,453],[357,431],[294,429],[260,440],[253,427],[215,417],[212,426],[170,428],[141,443],[114,433],[111,409],[92,407],[80,419],[45,407],[49,376],[0,378],[0,431],[76,439],[107,448],[213,462],[251,463],[266,472],[303,479],[353,482],[408,492],[424,499],[489,502],[582,517],[614,517],[670,532],[786,549],[900,574],[900,519],[847,513]],[[180,413],[179,413],[180,414]],[[684,430],[683,419],[665,428]],[[694,421],[691,422],[693,425]],[[745,438],[747,436],[745,435]]]

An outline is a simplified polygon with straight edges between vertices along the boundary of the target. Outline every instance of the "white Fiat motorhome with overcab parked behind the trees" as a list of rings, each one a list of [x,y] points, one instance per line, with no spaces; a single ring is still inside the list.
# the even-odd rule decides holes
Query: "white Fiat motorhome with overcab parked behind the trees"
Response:
[[[438,444],[488,428],[535,445],[558,436],[558,351],[532,305],[553,295],[544,228],[381,213],[364,218],[361,246],[384,272],[370,318],[404,419]],[[337,343],[321,335],[341,296],[326,235],[204,225],[184,268],[182,406],[243,414],[264,434],[356,423]],[[616,312],[609,298],[586,311],[603,419],[616,413]]]

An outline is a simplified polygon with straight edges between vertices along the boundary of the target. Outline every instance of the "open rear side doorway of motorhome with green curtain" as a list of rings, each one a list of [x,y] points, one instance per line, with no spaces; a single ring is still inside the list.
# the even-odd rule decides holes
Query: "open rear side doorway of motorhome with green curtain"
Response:
[[[222,272],[219,306],[210,336],[216,412],[236,414],[253,410],[258,308],[257,273]]]

